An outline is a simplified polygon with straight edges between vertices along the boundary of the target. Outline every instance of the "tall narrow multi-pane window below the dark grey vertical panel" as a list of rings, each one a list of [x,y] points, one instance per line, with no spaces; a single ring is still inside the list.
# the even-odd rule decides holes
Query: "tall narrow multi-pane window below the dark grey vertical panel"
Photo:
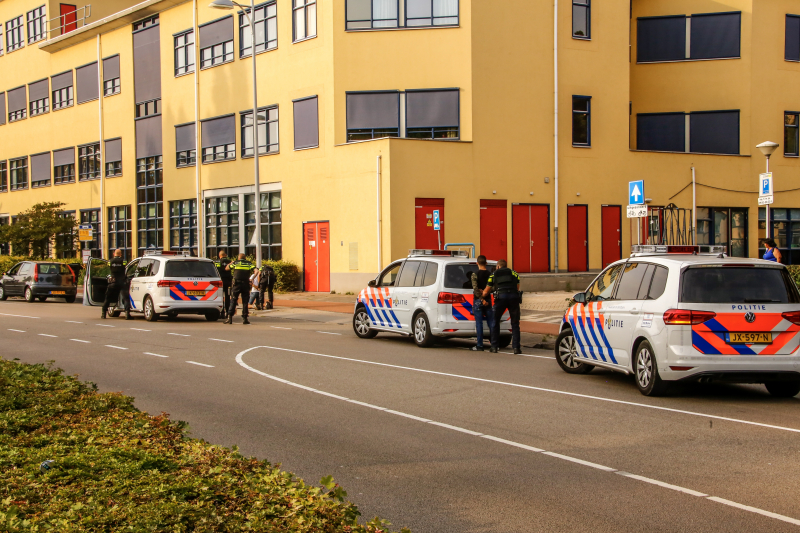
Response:
[[[164,247],[163,158],[136,161],[139,255]]]

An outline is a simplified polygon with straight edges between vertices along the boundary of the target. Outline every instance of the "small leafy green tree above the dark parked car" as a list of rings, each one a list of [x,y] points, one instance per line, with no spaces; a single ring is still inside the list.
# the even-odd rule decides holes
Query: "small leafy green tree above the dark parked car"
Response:
[[[14,255],[45,259],[57,235],[69,235],[56,241],[56,253],[70,251],[75,246],[74,217],[63,216],[62,202],[43,202],[17,215],[13,224],[0,226],[0,242],[11,245]]]

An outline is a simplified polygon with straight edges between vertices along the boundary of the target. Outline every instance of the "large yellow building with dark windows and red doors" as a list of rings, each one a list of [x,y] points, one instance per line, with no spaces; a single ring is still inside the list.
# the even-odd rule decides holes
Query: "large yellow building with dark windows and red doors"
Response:
[[[209,2],[0,2],[0,223],[61,201],[95,230],[76,254],[253,253],[250,32]],[[358,290],[446,243],[581,272],[637,241],[691,241],[696,219],[699,243],[753,257],[756,144],[771,140],[770,232],[800,263],[793,14],[790,0],[258,3],[263,256],[298,263],[309,291]],[[626,218],[634,180],[647,219]]]

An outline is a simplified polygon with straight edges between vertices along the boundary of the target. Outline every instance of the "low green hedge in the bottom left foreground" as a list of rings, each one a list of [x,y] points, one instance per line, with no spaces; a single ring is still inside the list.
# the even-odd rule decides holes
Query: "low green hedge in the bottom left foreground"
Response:
[[[378,518],[358,524],[330,476],[307,485],[184,427],[60,370],[0,358],[0,531],[388,531]]]

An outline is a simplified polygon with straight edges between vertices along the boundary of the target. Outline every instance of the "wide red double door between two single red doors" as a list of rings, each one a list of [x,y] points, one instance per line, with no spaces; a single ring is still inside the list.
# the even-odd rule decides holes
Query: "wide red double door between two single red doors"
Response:
[[[511,206],[511,247],[517,272],[550,271],[550,207]]]

